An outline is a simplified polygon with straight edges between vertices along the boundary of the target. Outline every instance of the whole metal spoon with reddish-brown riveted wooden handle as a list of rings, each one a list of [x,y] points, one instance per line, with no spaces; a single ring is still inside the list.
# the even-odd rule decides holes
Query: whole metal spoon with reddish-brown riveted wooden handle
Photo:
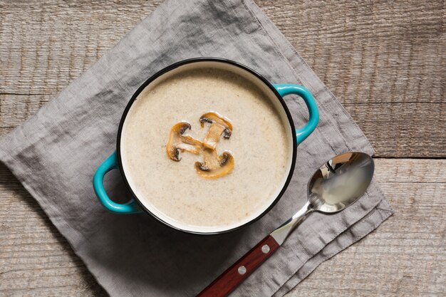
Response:
[[[308,182],[308,201],[284,224],[262,239],[197,297],[223,297],[237,288],[271,256],[311,212],[341,212],[361,197],[372,181],[375,165],[363,152],[346,152],[323,164]]]

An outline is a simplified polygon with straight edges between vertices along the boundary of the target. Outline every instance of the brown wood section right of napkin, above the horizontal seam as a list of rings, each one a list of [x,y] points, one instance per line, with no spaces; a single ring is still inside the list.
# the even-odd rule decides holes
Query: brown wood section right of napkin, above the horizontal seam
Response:
[[[445,157],[444,1],[258,3],[377,157]]]

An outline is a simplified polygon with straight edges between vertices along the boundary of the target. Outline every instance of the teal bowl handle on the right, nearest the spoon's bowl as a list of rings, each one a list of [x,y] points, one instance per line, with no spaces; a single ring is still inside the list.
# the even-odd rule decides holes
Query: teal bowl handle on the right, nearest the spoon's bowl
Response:
[[[308,119],[308,123],[306,123],[304,127],[296,129],[296,142],[297,145],[300,145],[301,142],[303,142],[306,137],[308,137],[314,131],[314,129],[316,129],[316,126],[318,125],[319,111],[318,106],[316,105],[316,101],[314,100],[313,95],[311,95],[310,91],[302,87],[301,85],[284,83],[274,85],[274,88],[276,88],[277,92],[279,92],[282,97],[290,94],[295,94],[301,96],[301,98],[305,101],[306,107],[308,108],[308,113],[310,114],[310,118]]]

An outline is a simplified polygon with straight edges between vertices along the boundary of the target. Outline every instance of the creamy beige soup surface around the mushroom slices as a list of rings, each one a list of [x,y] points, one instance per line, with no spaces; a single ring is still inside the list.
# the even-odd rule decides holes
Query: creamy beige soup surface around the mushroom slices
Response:
[[[187,68],[147,85],[121,137],[125,175],[145,207],[185,229],[225,229],[263,212],[284,186],[291,153],[289,124],[269,96],[242,75],[218,68]],[[170,129],[180,121],[192,126],[185,135],[203,140],[209,125],[200,127],[199,118],[209,111],[233,125],[216,149],[231,152],[234,169],[216,179],[197,174],[202,153],[182,152],[180,162],[166,153]]]

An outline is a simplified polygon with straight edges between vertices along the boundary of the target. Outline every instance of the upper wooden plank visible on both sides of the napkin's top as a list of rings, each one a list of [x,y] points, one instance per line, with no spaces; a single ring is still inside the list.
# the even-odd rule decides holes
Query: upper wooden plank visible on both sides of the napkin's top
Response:
[[[256,3],[376,156],[446,157],[444,1]],[[33,115],[159,4],[0,1],[0,132]]]

